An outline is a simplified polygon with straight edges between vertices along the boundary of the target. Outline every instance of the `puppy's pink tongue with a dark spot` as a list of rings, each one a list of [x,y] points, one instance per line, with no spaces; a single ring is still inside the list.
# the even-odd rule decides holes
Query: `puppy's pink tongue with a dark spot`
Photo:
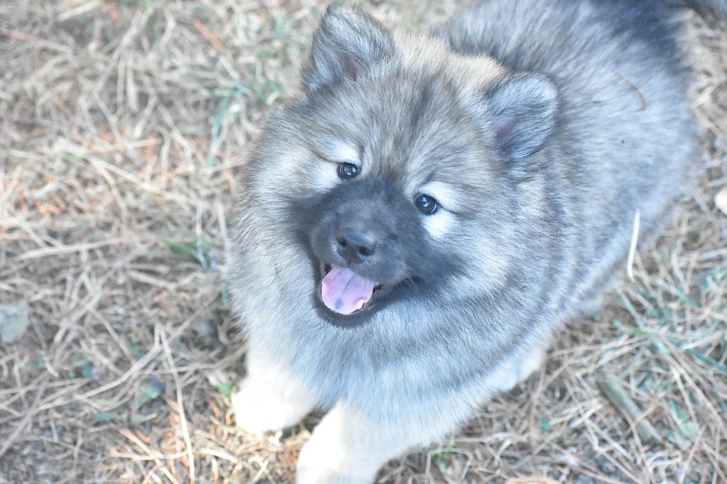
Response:
[[[345,315],[360,310],[374,294],[374,281],[345,267],[334,267],[323,278],[322,286],[321,299],[326,307]]]

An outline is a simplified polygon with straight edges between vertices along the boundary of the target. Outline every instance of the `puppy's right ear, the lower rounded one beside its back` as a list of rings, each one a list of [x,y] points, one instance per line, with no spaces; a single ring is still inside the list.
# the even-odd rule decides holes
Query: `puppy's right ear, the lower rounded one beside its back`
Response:
[[[523,74],[495,86],[486,106],[497,145],[521,160],[537,153],[555,132],[558,89],[545,76]]]

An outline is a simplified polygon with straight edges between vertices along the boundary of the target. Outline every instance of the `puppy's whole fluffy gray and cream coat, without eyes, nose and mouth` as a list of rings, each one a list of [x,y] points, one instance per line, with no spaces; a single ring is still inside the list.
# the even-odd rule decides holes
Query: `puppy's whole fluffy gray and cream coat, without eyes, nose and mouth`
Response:
[[[248,154],[230,254],[249,344],[238,422],[332,409],[300,483],[371,482],[456,429],[600,299],[637,211],[642,235],[664,222],[698,153],[677,15],[490,0],[433,36],[326,12],[302,95]],[[343,161],[358,179],[337,180]],[[441,197],[430,217],[414,209],[422,187]],[[318,257],[334,257],[324,225],[342,218],[385,241],[356,270],[405,282],[353,323],[314,295]]]

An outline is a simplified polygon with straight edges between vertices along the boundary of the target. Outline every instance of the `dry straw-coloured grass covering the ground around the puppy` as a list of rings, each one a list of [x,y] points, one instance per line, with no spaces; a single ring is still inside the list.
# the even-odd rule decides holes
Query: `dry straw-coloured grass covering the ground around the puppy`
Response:
[[[0,304],[31,310],[0,343],[0,483],[289,482],[316,416],[262,440],[230,417],[225,217],[323,3],[0,3]],[[409,25],[452,7],[374,3]],[[687,44],[706,168],[670,230],[537,378],[380,482],[727,482],[727,36],[695,19]]]

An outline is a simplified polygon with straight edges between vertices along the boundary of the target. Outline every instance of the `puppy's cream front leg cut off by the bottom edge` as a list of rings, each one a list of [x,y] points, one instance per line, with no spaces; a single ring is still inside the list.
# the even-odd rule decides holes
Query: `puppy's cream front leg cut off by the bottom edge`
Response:
[[[297,484],[373,483],[379,469],[390,459],[457,428],[465,413],[456,416],[446,411],[442,415],[440,409],[433,414],[433,407],[439,404],[408,403],[387,414],[386,421],[381,422],[345,403],[337,403],[302,448]],[[386,403],[382,407],[387,407]]]

